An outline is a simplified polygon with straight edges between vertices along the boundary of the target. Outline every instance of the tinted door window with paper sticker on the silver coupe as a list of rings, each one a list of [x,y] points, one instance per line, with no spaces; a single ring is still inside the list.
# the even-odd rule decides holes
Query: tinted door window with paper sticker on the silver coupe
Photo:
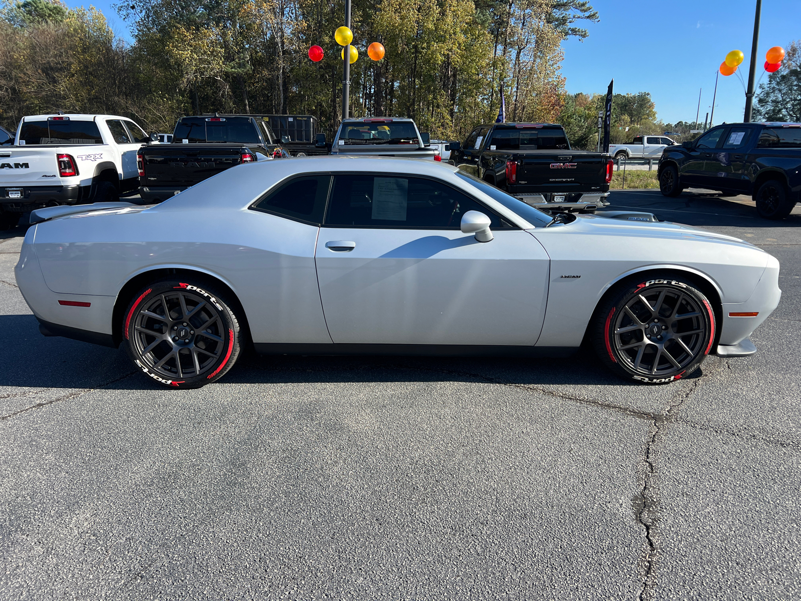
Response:
[[[325,215],[327,225],[372,228],[458,229],[468,211],[501,219],[466,194],[434,179],[408,175],[336,175]]]

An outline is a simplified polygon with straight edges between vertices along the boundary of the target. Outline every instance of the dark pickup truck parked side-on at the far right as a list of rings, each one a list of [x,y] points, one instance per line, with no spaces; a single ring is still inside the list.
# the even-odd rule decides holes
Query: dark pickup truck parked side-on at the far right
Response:
[[[801,123],[725,123],[659,159],[659,189],[678,196],[706,188],[749,194],[759,216],[787,217],[801,200]]]

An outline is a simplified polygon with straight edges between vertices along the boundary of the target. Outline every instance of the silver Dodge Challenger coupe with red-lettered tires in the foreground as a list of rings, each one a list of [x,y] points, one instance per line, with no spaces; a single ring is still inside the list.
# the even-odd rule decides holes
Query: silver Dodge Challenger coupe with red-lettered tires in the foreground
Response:
[[[39,209],[16,278],[45,336],[192,388],[239,353],[568,357],[659,384],[755,352],[779,262],[649,213],[556,216],[416,159],[247,163],[161,204]],[[532,365],[534,367],[534,365]]]

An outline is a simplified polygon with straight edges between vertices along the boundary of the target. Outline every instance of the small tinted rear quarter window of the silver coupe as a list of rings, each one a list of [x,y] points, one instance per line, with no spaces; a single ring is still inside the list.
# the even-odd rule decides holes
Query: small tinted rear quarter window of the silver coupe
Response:
[[[252,209],[320,224],[331,175],[306,175],[280,184],[251,205]]]

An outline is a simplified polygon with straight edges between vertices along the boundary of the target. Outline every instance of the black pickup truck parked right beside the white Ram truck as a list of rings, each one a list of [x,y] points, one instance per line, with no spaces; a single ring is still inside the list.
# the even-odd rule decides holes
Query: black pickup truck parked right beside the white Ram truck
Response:
[[[182,117],[172,143],[139,148],[139,196],[160,202],[241,163],[286,156],[267,124],[251,115]]]

